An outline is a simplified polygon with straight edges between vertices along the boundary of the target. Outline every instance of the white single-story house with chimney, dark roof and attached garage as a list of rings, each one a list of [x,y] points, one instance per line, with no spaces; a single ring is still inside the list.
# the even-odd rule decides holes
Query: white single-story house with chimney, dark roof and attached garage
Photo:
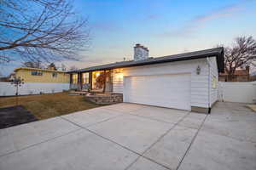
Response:
[[[148,48],[137,44],[131,61],[69,73],[71,85],[123,94],[125,102],[210,112],[218,100],[218,72],[224,72],[223,48],[149,58]]]

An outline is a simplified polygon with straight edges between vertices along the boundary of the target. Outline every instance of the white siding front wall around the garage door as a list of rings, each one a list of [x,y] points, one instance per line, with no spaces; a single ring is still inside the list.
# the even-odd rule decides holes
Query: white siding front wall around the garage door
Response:
[[[201,67],[201,73],[199,75],[196,74],[196,68],[198,66]],[[191,59],[172,63],[127,67],[123,69],[124,77],[180,73],[189,73],[191,75],[191,106],[208,108],[209,68],[207,59]],[[119,77],[117,74],[113,75],[113,92],[123,93],[123,78]]]

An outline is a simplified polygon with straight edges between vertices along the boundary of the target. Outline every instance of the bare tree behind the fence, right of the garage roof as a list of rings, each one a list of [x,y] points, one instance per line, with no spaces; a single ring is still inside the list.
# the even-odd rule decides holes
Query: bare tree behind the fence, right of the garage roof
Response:
[[[236,37],[232,47],[224,47],[224,66],[229,81],[236,69],[255,65],[256,40],[253,37]]]

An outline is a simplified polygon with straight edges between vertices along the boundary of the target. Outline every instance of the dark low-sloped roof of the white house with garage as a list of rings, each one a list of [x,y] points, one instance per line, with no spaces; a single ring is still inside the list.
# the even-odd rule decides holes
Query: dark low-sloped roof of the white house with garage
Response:
[[[211,48],[211,49],[205,49],[201,51],[195,51],[195,52],[184,53],[184,54],[174,54],[174,55],[148,58],[148,59],[137,60],[137,61],[135,60],[121,61],[121,62],[111,63],[108,65],[92,66],[92,67],[80,69],[78,71],[68,71],[68,73],[101,71],[101,70],[117,69],[117,68],[140,66],[140,65],[154,65],[154,64],[160,64],[160,63],[166,63],[166,62],[174,62],[174,61],[181,61],[181,60],[188,60],[188,59],[202,59],[202,58],[215,57],[215,56],[217,57],[218,72],[224,72],[224,48]]]

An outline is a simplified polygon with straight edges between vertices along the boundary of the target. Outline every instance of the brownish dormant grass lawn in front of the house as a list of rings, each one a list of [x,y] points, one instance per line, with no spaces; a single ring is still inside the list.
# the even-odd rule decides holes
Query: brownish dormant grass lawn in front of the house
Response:
[[[13,105],[16,105],[15,97],[0,98],[0,107]],[[23,105],[38,119],[47,119],[100,106],[86,101],[82,95],[67,93],[19,96],[18,105]]]

